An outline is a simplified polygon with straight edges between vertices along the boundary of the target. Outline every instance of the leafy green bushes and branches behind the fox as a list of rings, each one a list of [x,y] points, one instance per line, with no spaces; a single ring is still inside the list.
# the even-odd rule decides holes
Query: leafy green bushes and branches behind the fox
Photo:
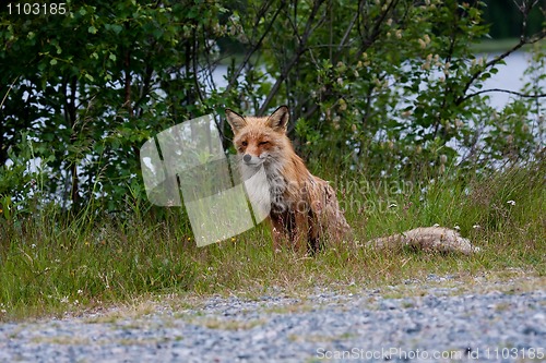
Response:
[[[228,145],[224,107],[263,114],[287,104],[290,136],[308,160],[371,177],[544,157],[544,47],[535,47],[533,82],[521,92],[534,97],[496,111],[479,93],[511,51],[545,37],[535,1],[518,2],[520,41],[491,59],[470,47],[488,35],[484,10],[497,9],[480,1],[67,3],[64,15],[2,9],[8,218],[47,202],[132,209],[145,201],[140,146],[211,112]],[[228,64],[222,86],[213,76],[219,64]]]

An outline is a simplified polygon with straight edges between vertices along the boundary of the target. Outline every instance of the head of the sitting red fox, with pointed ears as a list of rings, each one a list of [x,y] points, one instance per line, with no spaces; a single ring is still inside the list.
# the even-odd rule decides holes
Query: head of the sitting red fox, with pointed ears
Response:
[[[247,166],[280,161],[292,144],[286,136],[289,112],[281,106],[268,117],[242,117],[226,109],[227,122],[234,132],[234,145]]]

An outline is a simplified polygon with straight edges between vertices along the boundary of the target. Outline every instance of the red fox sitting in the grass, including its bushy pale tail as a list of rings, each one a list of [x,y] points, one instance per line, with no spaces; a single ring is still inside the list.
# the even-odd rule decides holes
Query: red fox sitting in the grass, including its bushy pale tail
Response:
[[[352,234],[340,209],[335,191],[309,172],[294,152],[286,135],[289,112],[281,106],[269,117],[242,117],[226,109],[226,119],[234,132],[234,145],[244,179],[263,166],[271,209],[273,249],[288,244],[297,251],[314,253],[328,241],[339,243]],[[423,250],[470,254],[479,249],[456,231],[428,227],[375,239],[368,244],[381,247],[412,245]]]

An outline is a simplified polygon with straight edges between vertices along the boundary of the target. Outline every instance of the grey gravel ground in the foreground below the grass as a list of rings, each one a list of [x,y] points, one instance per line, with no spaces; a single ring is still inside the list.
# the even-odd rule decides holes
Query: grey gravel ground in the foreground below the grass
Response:
[[[546,361],[546,280],[537,277],[430,275],[375,290],[150,306],[1,324],[0,362]]]

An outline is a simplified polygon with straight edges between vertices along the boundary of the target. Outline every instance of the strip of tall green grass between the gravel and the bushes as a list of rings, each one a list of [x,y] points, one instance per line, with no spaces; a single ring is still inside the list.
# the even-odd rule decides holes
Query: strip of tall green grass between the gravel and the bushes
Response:
[[[314,172],[329,177],[325,168]],[[349,241],[314,257],[275,254],[263,226],[198,249],[177,209],[161,222],[139,207],[120,219],[99,218],[92,210],[75,218],[44,210],[0,219],[0,320],[169,294],[193,301],[230,293],[254,298],[272,287],[288,294],[331,283],[378,287],[428,274],[465,277],[520,269],[546,275],[544,162],[470,181],[367,182],[360,173],[330,179],[357,241],[418,226],[456,225],[483,252],[380,252]]]

